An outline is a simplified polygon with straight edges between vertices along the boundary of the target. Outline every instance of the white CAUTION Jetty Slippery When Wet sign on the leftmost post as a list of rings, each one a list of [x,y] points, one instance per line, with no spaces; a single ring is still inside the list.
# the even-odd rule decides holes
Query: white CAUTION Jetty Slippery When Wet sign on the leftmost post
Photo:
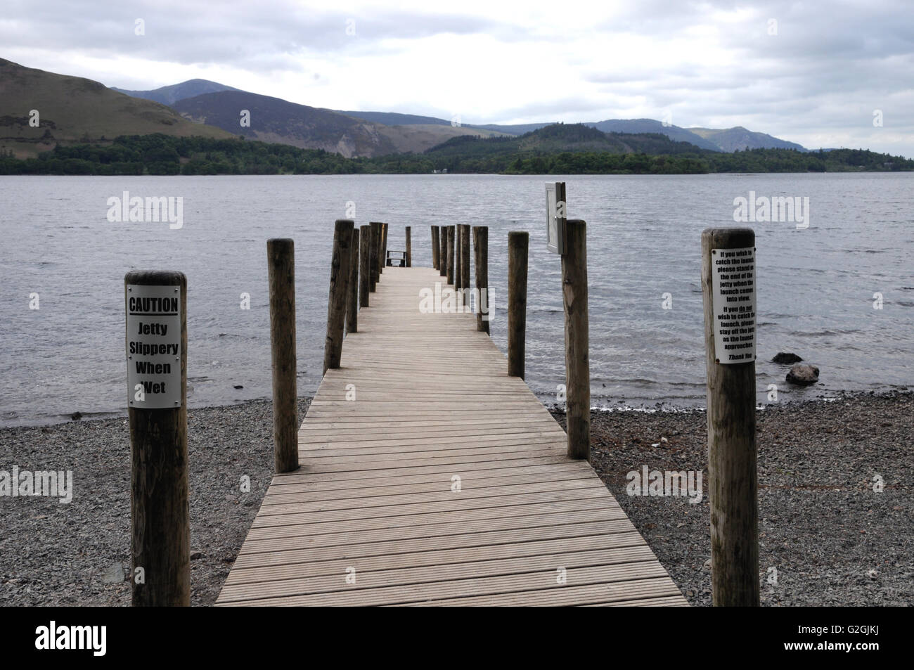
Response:
[[[127,285],[127,405],[181,406],[181,292]]]

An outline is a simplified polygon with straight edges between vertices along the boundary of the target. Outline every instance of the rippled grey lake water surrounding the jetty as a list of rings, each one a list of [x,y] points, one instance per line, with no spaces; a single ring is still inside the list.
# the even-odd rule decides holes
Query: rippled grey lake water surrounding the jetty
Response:
[[[431,263],[430,225],[489,226],[492,337],[503,351],[507,233],[529,230],[526,379],[554,400],[563,314],[546,181],[567,182],[569,218],[588,222],[594,406],[704,405],[701,230],[738,225],[734,198],[750,191],[810,198],[807,229],[747,224],[758,248],[759,402],[772,383],[779,401],[914,384],[911,174],[0,176],[0,424],[125,413],[122,285],[133,269],[187,275],[190,407],[269,398],[271,237],[295,239],[299,392],[313,393],[333,222],[350,201],[356,224],[389,223],[389,249],[403,248],[411,226],[414,265]],[[109,222],[107,200],[123,191],[182,197],[183,227]],[[778,351],[820,367],[821,383],[789,387],[787,368],[769,362]]]

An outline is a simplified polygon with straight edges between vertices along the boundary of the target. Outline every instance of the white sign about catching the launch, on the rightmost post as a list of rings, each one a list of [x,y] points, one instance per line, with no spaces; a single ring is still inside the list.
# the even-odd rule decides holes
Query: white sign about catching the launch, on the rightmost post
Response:
[[[755,360],[755,248],[711,250],[717,363]]]

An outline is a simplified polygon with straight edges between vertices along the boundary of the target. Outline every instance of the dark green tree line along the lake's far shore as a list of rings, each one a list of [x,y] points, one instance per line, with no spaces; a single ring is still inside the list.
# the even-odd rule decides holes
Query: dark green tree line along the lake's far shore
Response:
[[[694,175],[914,170],[914,160],[865,149],[749,149],[728,154],[697,147],[691,152],[686,144],[675,146],[675,154],[599,148],[547,152],[526,148],[514,139],[454,138],[424,154],[346,158],[323,149],[243,139],[130,135],[108,144],[58,145],[37,158],[18,159],[11,152],[0,152],[0,175],[369,175],[445,169],[457,174]]]

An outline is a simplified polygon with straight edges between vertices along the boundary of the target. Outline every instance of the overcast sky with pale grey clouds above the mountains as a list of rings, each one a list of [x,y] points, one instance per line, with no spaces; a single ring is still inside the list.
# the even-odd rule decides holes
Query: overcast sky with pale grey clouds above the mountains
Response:
[[[647,117],[914,156],[912,0],[3,4],[0,57],[108,86],[202,78],[337,110]]]

